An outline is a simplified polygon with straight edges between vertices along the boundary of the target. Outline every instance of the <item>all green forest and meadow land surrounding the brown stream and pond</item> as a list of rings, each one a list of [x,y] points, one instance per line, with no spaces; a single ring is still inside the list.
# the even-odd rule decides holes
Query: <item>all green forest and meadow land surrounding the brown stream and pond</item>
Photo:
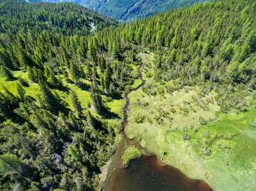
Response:
[[[0,1],[0,189],[100,190],[143,61],[128,137],[216,191],[253,190],[255,12],[221,0],[116,26],[73,3]]]

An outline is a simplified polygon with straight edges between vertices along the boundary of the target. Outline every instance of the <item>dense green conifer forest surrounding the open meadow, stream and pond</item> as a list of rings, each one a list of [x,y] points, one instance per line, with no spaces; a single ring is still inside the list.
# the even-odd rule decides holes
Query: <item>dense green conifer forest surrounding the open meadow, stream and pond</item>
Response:
[[[0,189],[99,190],[118,133],[105,102],[131,89],[139,52],[156,54],[148,76],[173,80],[166,91],[201,85],[221,111],[244,111],[256,98],[255,12],[254,0],[221,0],[116,27],[73,3],[1,0]],[[86,107],[73,86],[90,91]]]

